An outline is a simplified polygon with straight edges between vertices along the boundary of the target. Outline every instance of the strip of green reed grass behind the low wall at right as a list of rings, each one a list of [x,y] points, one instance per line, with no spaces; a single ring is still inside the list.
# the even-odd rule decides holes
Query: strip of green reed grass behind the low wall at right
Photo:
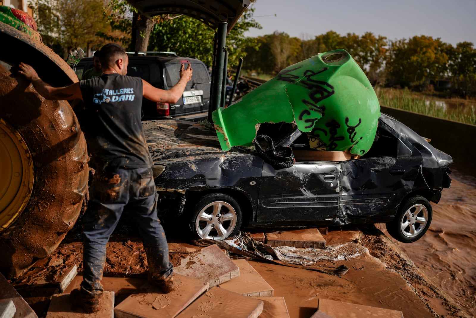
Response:
[[[380,105],[403,109],[428,116],[449,119],[460,123],[476,125],[474,111],[467,111],[464,104],[458,104],[456,110],[446,111],[436,105],[436,101],[427,96],[418,96],[408,89],[376,89]]]

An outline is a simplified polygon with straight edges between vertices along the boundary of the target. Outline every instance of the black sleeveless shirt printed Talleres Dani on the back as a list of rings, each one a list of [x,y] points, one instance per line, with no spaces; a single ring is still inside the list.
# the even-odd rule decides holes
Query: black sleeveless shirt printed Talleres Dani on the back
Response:
[[[149,168],[142,132],[142,80],[106,74],[79,82],[87,121],[87,143],[97,170]],[[85,130],[85,131],[86,131]]]

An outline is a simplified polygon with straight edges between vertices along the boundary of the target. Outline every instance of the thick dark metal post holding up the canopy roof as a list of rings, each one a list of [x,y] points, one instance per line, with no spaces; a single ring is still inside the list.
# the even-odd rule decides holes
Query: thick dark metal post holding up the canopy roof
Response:
[[[212,70],[212,79],[213,79],[213,95],[212,101],[210,103],[210,108],[208,108],[208,121],[212,122],[211,113],[220,107],[222,89],[223,89],[223,63],[225,61],[225,46],[227,44],[227,22],[218,23],[218,48],[217,48],[217,59],[215,65],[213,65]]]

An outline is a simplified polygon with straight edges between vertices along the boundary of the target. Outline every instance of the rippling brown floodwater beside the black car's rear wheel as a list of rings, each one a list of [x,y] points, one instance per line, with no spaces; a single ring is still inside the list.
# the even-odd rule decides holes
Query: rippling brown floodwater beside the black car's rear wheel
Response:
[[[476,317],[476,179],[457,171],[451,178],[451,188],[443,190],[438,204],[432,203],[433,220],[426,234],[411,244],[392,241]],[[385,225],[381,229],[385,231]]]

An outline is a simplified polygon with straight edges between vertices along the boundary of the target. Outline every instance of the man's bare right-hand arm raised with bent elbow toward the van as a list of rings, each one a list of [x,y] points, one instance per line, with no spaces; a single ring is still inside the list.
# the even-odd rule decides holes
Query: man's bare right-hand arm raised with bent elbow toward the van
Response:
[[[180,65],[180,80],[168,91],[150,85],[142,80],[142,94],[145,98],[152,102],[159,103],[177,103],[185,90],[187,82],[192,79],[192,67],[188,64],[187,69]]]

